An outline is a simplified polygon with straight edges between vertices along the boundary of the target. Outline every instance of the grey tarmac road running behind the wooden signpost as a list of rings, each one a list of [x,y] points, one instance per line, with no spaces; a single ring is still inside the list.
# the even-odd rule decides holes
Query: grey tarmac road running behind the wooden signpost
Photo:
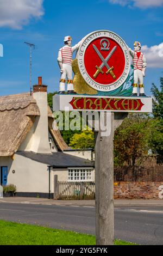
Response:
[[[1,202],[0,219],[95,234],[93,205]],[[115,238],[141,245],[163,245],[162,206],[116,204]]]

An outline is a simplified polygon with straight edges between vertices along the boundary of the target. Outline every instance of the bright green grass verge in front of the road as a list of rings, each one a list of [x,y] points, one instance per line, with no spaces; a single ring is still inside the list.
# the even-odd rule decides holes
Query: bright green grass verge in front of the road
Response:
[[[0,245],[96,245],[93,235],[0,221]],[[115,240],[115,245],[134,245]]]

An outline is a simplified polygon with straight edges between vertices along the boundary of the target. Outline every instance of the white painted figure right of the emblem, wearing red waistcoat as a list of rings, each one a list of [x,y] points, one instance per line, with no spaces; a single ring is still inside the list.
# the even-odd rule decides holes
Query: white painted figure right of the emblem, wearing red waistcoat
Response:
[[[143,76],[145,76],[146,71],[146,57],[141,51],[140,42],[134,42],[134,51],[129,48],[131,57],[133,58],[134,65],[134,84],[133,84],[133,96],[137,96],[137,86],[139,83],[139,96],[146,96],[143,84]]]

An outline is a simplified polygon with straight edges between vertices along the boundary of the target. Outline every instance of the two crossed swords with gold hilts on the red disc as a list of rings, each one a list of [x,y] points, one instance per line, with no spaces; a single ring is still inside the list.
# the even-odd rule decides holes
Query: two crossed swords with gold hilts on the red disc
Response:
[[[108,71],[106,71],[106,74],[110,74],[114,79],[116,78],[114,72],[112,71],[114,69],[114,66],[112,66],[110,68],[109,64],[108,64],[108,60],[111,58],[112,54],[115,52],[117,46],[114,46],[114,48],[112,48],[111,52],[108,54],[108,56],[104,59],[104,57],[102,56],[101,52],[99,52],[99,50],[97,49],[96,45],[93,45],[94,50],[96,51],[96,53],[98,54],[98,57],[102,60],[102,64],[100,66],[96,65],[96,73],[95,75],[93,75],[94,78],[96,78],[98,76],[99,73],[104,74],[104,71],[102,70],[104,66],[106,66],[106,68],[108,69]]]

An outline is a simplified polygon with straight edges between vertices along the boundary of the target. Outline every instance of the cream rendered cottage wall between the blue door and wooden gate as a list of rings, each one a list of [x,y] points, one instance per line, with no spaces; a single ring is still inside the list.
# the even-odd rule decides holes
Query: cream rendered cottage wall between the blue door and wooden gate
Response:
[[[47,164],[15,154],[14,160],[11,160],[10,157],[1,157],[0,165],[8,166],[8,184],[16,185],[17,192],[48,193],[49,173]],[[15,173],[12,173],[12,170],[15,170]]]

